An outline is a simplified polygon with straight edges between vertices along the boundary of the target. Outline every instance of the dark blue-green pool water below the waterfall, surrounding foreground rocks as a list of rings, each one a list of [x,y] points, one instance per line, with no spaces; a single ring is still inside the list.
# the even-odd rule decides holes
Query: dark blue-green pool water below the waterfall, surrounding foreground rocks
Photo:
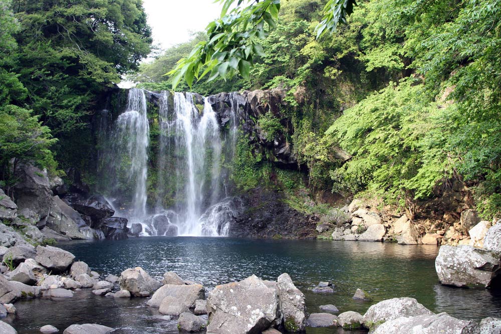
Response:
[[[320,305],[334,304],[340,312],[364,313],[380,300],[414,297],[434,312],[461,319],[499,316],[501,291],[457,289],[438,283],[434,261],[438,248],[431,245],[398,245],[324,240],[262,240],[214,237],[139,237],[120,241],[73,241],[60,247],[75,254],[102,275],[141,266],[161,279],[166,271],[202,283],[216,284],[244,279],[252,274],[276,280],[287,272],[306,296],[309,313]],[[319,281],[335,284],[333,294],[315,294]],[[368,291],[372,302],[352,299],[357,288]],[[177,321],[159,318],[148,298],[115,299],[95,296],[90,289],[62,300],[18,301],[18,314],[6,320],[20,334],[39,333],[45,324],[62,332],[73,323],[100,323],[116,333],[178,333]],[[333,328],[308,328],[310,334],[358,333]]]

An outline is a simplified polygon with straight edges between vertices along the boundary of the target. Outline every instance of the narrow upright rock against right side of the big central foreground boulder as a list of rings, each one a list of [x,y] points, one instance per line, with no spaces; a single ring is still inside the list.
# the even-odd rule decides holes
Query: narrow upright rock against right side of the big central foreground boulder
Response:
[[[280,275],[277,278],[277,283],[285,329],[291,332],[305,330],[305,295],[294,285],[288,273]],[[327,282],[327,284],[329,283]]]

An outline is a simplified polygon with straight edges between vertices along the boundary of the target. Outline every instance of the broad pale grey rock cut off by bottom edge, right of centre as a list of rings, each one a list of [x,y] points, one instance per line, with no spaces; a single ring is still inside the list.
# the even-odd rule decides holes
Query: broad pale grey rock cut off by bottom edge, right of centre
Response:
[[[372,331],[373,334],[461,334],[471,321],[456,319],[447,313],[421,314],[387,320]]]

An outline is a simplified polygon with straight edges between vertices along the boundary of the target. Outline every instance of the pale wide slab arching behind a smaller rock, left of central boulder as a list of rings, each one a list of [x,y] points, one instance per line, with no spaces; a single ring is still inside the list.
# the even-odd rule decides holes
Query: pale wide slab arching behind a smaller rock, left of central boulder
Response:
[[[147,304],[153,307],[160,307],[163,298],[174,296],[183,301],[185,305],[191,307],[197,299],[205,298],[205,290],[201,284],[177,285],[166,284],[160,287],[148,300]]]

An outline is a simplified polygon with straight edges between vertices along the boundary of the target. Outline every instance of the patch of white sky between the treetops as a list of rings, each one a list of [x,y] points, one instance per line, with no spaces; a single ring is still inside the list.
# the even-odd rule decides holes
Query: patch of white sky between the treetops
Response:
[[[221,5],[213,0],[143,0],[143,7],[153,44],[162,49],[188,41],[190,32],[205,30],[221,12]]]

